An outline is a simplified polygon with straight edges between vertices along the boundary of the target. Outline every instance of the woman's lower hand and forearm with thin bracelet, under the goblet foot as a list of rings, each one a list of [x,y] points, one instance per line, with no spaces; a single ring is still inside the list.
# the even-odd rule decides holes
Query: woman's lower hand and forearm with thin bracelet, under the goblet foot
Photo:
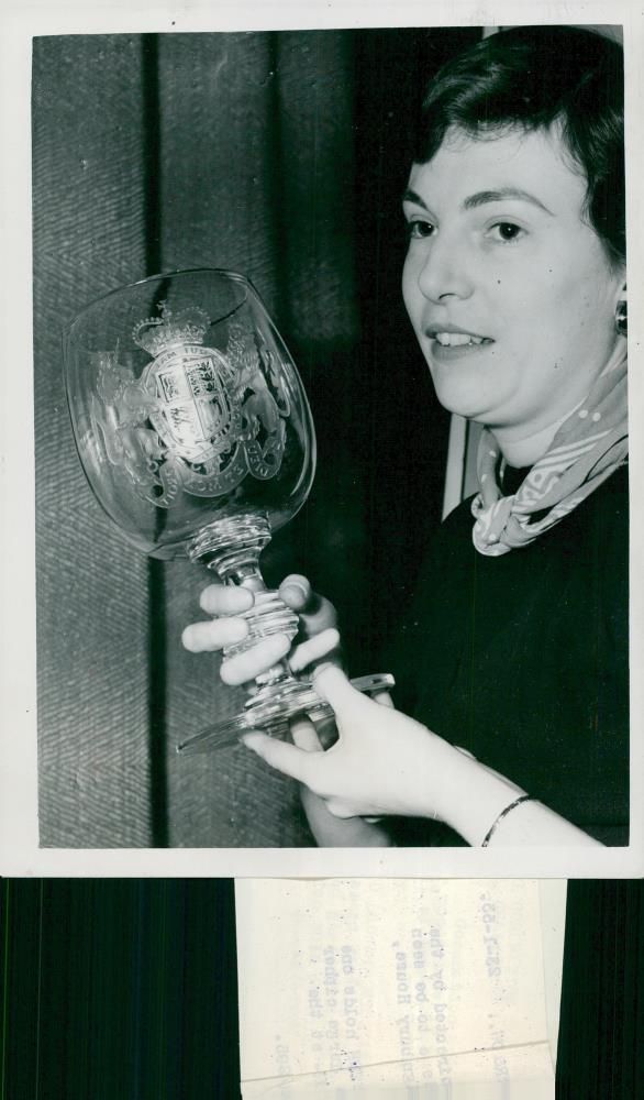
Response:
[[[525,792],[512,780],[413,718],[362,695],[340,669],[322,668],[314,686],[335,713],[338,738],[327,751],[302,748],[302,738],[310,736],[303,727],[298,733],[299,746],[260,733],[244,734],[242,740],[273,768],[306,784],[323,800],[329,814],[340,818],[433,817],[476,846],[489,842],[491,826],[499,845],[597,846],[540,802],[517,805]],[[314,820],[312,827],[315,832]]]

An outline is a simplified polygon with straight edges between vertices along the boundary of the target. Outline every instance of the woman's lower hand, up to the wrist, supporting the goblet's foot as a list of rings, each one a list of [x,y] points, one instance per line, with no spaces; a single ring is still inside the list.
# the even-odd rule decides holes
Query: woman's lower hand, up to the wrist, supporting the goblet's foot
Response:
[[[338,739],[332,748],[306,751],[260,733],[245,734],[244,744],[306,784],[336,817],[445,820],[446,779],[458,750],[392,706],[360,694],[337,668],[322,668],[314,686],[335,713]]]

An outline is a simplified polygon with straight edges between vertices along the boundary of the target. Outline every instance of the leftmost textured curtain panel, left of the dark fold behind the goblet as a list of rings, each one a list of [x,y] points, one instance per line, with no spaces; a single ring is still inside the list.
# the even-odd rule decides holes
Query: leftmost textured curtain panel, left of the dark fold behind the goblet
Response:
[[[76,455],[62,332],[145,271],[141,43],[36,38],[34,366],[41,844],[151,843],[145,562]]]

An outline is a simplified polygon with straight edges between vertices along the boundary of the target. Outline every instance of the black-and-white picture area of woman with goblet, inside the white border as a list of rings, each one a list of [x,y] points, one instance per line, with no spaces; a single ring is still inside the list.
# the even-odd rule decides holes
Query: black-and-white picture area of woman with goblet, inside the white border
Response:
[[[629,845],[622,42],[34,37],[42,848]]]

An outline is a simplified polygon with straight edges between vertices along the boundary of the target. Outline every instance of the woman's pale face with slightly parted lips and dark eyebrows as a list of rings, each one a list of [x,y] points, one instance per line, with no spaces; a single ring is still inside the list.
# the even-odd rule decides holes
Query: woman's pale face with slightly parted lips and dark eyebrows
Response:
[[[404,302],[438,400],[501,446],[569,413],[620,339],[624,273],[584,219],[585,196],[546,132],[448,134],[411,169]]]

